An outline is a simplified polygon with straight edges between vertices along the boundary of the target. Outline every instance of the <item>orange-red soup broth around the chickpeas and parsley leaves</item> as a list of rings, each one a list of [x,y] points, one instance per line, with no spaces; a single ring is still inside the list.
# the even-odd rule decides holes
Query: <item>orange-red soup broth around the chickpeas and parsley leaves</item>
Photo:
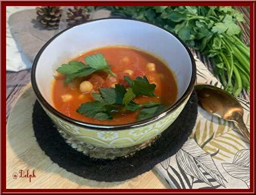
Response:
[[[172,105],[177,98],[177,83],[172,71],[157,57],[144,51],[130,48],[111,46],[91,50],[83,53],[71,61],[84,61],[84,57],[101,53],[104,55],[111,70],[117,75],[117,77],[110,77],[108,73],[101,71],[96,72],[88,77],[78,78],[69,84],[65,84],[65,76],[58,74],[52,86],[52,99],[54,107],[60,113],[76,119],[78,121],[93,123],[93,124],[106,124],[106,125],[118,125],[127,124],[137,121],[137,115],[139,112],[125,112],[116,113],[111,120],[95,120],[93,118],[86,117],[76,112],[78,107],[85,102],[93,101],[91,93],[82,94],[79,90],[79,84],[84,80],[89,80],[93,84],[93,92],[97,93],[99,88],[109,88],[116,83],[127,85],[123,76],[130,76],[135,79],[138,76],[146,76],[150,83],[156,84],[155,95],[156,97],[137,97],[134,101],[136,103],[146,102],[161,102],[165,106]],[[147,64],[154,63],[155,70],[149,69]],[[129,71],[133,71],[130,75]],[[131,72],[130,72],[131,73]],[[72,99],[69,101],[63,101],[63,95],[69,94]]]

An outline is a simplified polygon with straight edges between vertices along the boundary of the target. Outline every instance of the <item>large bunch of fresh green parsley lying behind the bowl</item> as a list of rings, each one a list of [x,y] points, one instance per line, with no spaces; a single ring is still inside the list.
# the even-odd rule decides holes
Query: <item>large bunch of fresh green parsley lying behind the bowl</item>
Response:
[[[242,14],[230,6],[107,6],[113,14],[150,21],[176,33],[214,62],[214,72],[234,96],[249,91],[249,48],[241,41]],[[89,7],[93,11],[93,7]]]

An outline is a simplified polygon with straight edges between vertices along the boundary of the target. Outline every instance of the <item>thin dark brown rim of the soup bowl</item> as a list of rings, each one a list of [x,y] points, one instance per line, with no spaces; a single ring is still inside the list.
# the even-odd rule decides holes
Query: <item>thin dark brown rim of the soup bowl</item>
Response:
[[[52,105],[50,105],[50,103],[47,102],[47,100],[42,96],[42,94],[40,93],[38,86],[36,84],[36,78],[35,78],[35,72],[36,72],[36,67],[37,67],[37,62],[42,54],[42,52],[44,52],[44,50],[47,48],[47,46],[55,39],[57,38],[60,34],[72,29],[72,28],[77,28],[78,26],[81,25],[86,25],[88,23],[93,23],[95,21],[98,20],[108,20],[108,19],[120,19],[120,20],[132,20],[132,21],[139,21],[141,23],[145,23],[148,25],[153,25],[154,27],[160,28],[164,31],[166,31],[167,33],[169,33],[170,35],[173,35],[175,38],[178,39],[178,41],[181,42],[181,44],[183,45],[183,47],[186,49],[189,58],[191,60],[191,66],[192,66],[192,73],[191,73],[191,78],[190,78],[190,82],[188,84],[188,87],[186,89],[186,91],[184,92],[184,94],[171,106],[169,106],[164,112],[145,119],[145,120],[141,120],[141,121],[137,121],[137,122],[133,122],[133,123],[127,123],[127,124],[120,124],[120,125],[104,125],[104,124],[93,124],[93,123],[86,123],[86,122],[82,122],[82,121],[78,121],[76,119],[70,118],[66,115],[63,115],[62,113],[60,113],[59,111],[57,111]],[[192,93],[193,89],[194,89],[194,85],[195,85],[195,81],[196,81],[196,62],[195,59],[193,57],[193,55],[191,54],[190,50],[188,49],[188,47],[185,45],[185,43],[173,32],[170,32],[167,29],[164,29],[162,27],[160,27],[159,25],[150,23],[148,21],[143,21],[140,19],[133,19],[133,18],[125,18],[125,17],[107,17],[107,18],[99,18],[99,19],[93,19],[93,20],[89,20],[86,23],[83,24],[79,24],[76,25],[74,27],[69,27],[65,30],[60,31],[59,33],[57,33],[56,35],[54,35],[51,39],[49,39],[46,44],[44,46],[41,47],[41,49],[38,51],[33,64],[32,64],[32,69],[31,69],[31,83],[32,83],[32,88],[36,94],[36,97],[38,99],[38,101],[46,107],[46,109],[53,115],[56,115],[57,117],[59,117],[62,120],[65,120],[66,122],[75,124],[79,127],[86,127],[86,128],[90,128],[90,129],[95,129],[95,130],[99,130],[99,131],[106,131],[106,130],[111,130],[111,131],[118,131],[118,130],[125,130],[125,129],[131,129],[131,128],[138,128],[141,126],[145,126],[151,123],[154,123],[162,118],[164,118],[165,116],[167,116],[169,113],[171,113],[172,111],[174,111],[180,104],[182,104],[187,97]]]

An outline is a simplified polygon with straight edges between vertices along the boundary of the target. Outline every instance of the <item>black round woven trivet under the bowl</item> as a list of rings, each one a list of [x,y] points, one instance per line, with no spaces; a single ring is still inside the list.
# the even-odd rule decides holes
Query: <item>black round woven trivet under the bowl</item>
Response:
[[[86,179],[124,181],[151,170],[156,164],[177,153],[196,123],[197,106],[197,96],[193,92],[179,117],[161,137],[129,158],[103,160],[83,155],[65,142],[38,101],[33,109],[33,128],[41,149],[60,167]]]

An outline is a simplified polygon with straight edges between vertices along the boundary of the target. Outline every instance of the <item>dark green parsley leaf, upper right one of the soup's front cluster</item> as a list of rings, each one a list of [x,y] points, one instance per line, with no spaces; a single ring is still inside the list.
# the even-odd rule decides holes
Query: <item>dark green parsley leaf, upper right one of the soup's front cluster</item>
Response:
[[[135,95],[155,96],[154,90],[156,85],[154,83],[150,84],[145,76],[137,77],[136,80],[132,80],[129,76],[124,76],[124,79],[131,86]]]

